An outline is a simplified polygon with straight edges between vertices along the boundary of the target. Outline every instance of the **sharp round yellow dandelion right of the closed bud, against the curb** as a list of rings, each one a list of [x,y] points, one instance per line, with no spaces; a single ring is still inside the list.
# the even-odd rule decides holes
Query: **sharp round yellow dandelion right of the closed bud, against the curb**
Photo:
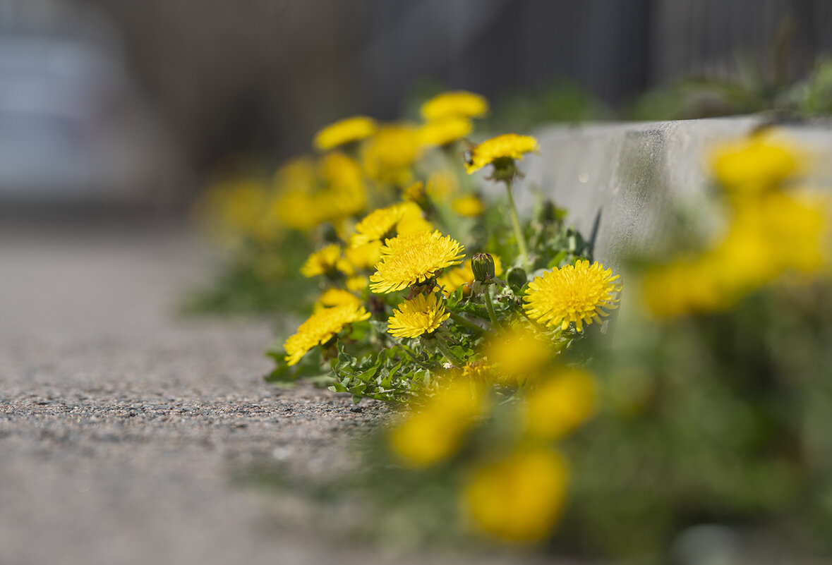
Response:
[[[606,316],[604,309],[617,308],[621,285],[615,281],[612,269],[604,270],[600,263],[589,264],[578,260],[574,266],[565,265],[535,277],[523,297],[527,314],[549,327],[560,326],[566,330],[571,322],[578,331],[592,321],[601,323],[599,316]]]

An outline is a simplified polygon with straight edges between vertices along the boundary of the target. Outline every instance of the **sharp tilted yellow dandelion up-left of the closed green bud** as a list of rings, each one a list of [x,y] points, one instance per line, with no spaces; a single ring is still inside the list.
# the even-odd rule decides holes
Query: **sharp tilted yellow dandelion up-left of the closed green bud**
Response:
[[[450,235],[418,232],[385,241],[381,260],[370,275],[369,288],[387,294],[404,290],[437,275],[439,270],[462,263],[465,248]]]

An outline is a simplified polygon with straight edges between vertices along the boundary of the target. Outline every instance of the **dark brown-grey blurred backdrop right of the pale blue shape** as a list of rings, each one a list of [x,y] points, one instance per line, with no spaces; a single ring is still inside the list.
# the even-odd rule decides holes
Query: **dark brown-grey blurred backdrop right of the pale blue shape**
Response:
[[[832,50],[827,0],[0,0],[0,30],[36,4],[109,22],[197,172],[305,151],[342,116],[392,119],[426,80],[499,102],[568,78],[620,107],[690,73],[730,76],[740,53],[765,66],[783,22],[791,77]]]

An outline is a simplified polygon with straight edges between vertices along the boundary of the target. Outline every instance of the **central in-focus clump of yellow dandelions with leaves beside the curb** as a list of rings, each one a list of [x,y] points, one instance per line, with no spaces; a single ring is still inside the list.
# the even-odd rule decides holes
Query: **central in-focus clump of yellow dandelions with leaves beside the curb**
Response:
[[[315,136],[324,159],[352,152],[365,203],[379,206],[310,232],[319,242],[300,272],[319,294],[312,315],[270,352],[270,380],[329,380],[356,400],[408,400],[483,360],[493,335],[528,326],[564,348],[617,307],[617,276],[591,263],[562,211],[543,203],[520,221],[513,184],[537,140],[463,143],[488,110],[470,92],[440,94],[420,110],[421,126],[358,116]],[[506,201],[478,195],[471,175],[484,168],[504,183]]]

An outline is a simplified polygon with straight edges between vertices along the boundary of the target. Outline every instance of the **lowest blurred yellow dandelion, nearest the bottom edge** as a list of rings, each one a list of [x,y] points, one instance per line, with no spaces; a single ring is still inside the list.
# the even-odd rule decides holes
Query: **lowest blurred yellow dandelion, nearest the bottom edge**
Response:
[[[567,487],[567,466],[549,449],[527,449],[476,469],[463,508],[482,533],[513,543],[552,533]]]

